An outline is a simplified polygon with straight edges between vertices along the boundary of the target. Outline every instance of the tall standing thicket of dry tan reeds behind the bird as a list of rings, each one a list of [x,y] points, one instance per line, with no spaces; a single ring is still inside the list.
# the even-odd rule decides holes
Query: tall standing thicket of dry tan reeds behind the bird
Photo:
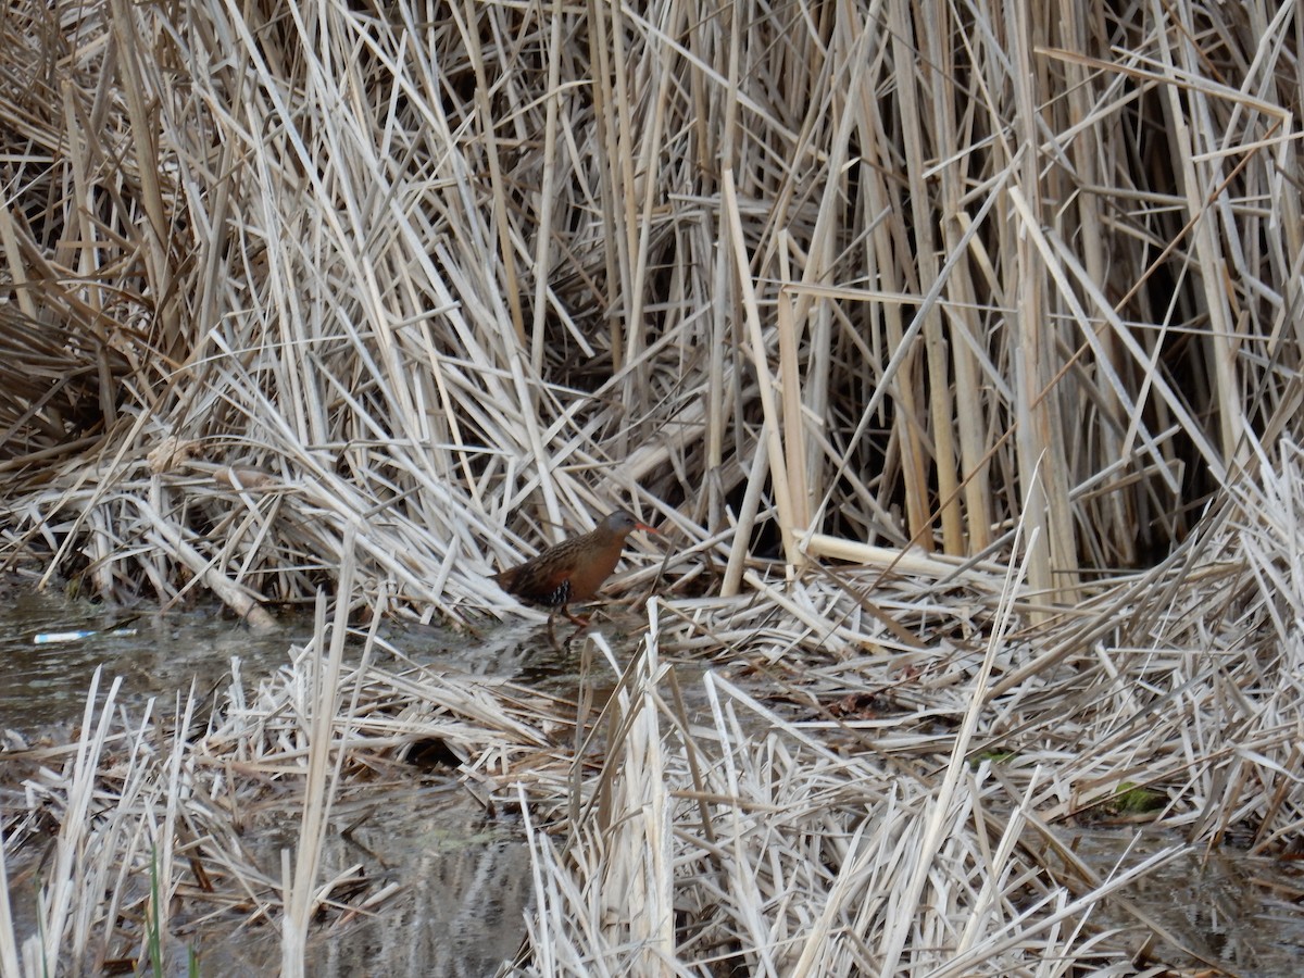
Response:
[[[1290,10],[1244,8],[1234,56],[1180,3],[327,3],[270,34],[110,3],[67,52],[42,9],[4,25],[14,77],[68,82],[4,120],[5,549],[106,597],[305,600],[365,511],[395,608],[468,621],[490,567],[635,497],[717,540],[725,595],[769,535],[799,578],[807,533],[975,556],[1028,518],[1071,606],[1294,429]]]

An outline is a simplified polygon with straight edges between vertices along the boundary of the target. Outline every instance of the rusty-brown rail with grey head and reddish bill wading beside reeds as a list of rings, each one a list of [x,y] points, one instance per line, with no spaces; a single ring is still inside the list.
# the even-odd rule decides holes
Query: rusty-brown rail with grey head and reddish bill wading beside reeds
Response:
[[[609,512],[592,533],[562,540],[537,557],[494,574],[494,580],[509,593],[537,605],[559,608],[576,625],[588,625],[566,606],[572,601],[587,601],[602,587],[621,559],[625,537],[635,529],[657,532],[625,510]]]

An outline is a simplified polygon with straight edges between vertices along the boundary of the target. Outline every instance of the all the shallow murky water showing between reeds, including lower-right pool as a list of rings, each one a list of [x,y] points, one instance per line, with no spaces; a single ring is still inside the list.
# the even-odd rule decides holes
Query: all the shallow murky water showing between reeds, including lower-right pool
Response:
[[[52,730],[57,735],[59,728],[74,725],[99,664],[107,675],[124,677],[123,702],[143,703],[151,695],[184,695],[192,682],[202,692],[230,681],[232,657],[241,660],[245,682],[256,683],[287,662],[291,645],[312,635],[306,613],[286,614],[278,631],[256,634],[215,606],[136,615],[23,589],[5,599],[0,733],[16,730],[25,738]],[[395,649],[391,655],[417,664],[511,677],[550,691],[571,690],[576,682],[576,656],[552,649],[529,626],[505,629],[492,642],[420,626],[389,626],[383,638]],[[515,955],[526,932],[531,867],[524,833],[510,816],[488,818],[455,777],[416,771],[387,784],[383,797],[334,815],[351,828],[330,833],[323,871],[364,862],[385,878],[373,885],[395,883],[400,889],[377,915],[317,935],[309,951],[312,974],[389,977],[398,968],[404,974],[469,978],[496,974]],[[250,838],[270,875],[279,875],[279,853],[293,845],[295,828],[274,827]],[[1133,825],[1064,829],[1063,837],[1102,876],[1181,841]],[[1301,868],[1230,848],[1192,848],[1124,896],[1172,939],[1171,945],[1151,947],[1158,960],[1214,969],[1210,974],[1297,975],[1304,974]],[[188,921],[184,908],[173,923],[179,945],[198,951],[202,974],[252,978],[276,971],[275,926]],[[1093,923],[1134,934],[1137,947],[1149,936],[1134,917],[1110,908]],[[185,961],[170,965],[170,973],[186,970]]]

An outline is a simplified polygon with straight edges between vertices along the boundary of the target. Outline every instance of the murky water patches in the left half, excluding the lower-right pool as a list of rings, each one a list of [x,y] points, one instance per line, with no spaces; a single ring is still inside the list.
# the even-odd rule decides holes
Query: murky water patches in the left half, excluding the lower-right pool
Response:
[[[232,659],[240,660],[243,687],[256,687],[289,661],[292,645],[303,647],[312,636],[306,614],[287,617],[275,632],[256,634],[216,606],[133,618],[128,609],[21,588],[4,597],[0,734],[13,730],[29,742],[39,735],[55,742],[72,738],[68,728],[80,722],[90,678],[100,664],[102,696],[112,677],[121,675],[119,709],[140,717],[145,700],[158,696],[158,716],[171,712],[171,704],[179,694],[185,696],[192,682],[202,703],[220,700],[232,681]],[[34,640],[40,632],[111,631],[126,618],[132,618],[128,627],[134,635],[93,635],[51,644]],[[515,677],[540,648],[540,640],[526,629],[501,630],[488,642],[400,625],[386,625],[381,635],[376,661],[398,670],[432,666]],[[361,635],[356,645],[361,648]],[[347,660],[357,656],[356,651],[346,652]],[[0,784],[0,810],[7,807],[7,797],[14,797],[12,790],[21,789]],[[0,822],[3,815],[0,811]],[[265,802],[250,814],[241,836],[249,862],[274,887],[282,879],[282,850],[297,845],[299,825],[297,807]],[[35,919],[30,874],[40,858],[37,849],[8,854],[10,883],[26,880],[10,892],[20,940]],[[334,879],[355,866],[368,893],[391,884],[399,889],[374,915],[329,915],[309,939],[310,974],[492,975],[520,947],[531,898],[523,832],[514,816],[488,818],[455,772],[432,776],[396,765],[383,782],[355,786],[333,810],[318,879]],[[186,896],[190,885],[193,879],[186,876],[175,901],[167,973],[185,974],[193,949],[201,974],[275,974],[282,953],[275,921],[252,921],[248,905],[214,913],[210,901]]]

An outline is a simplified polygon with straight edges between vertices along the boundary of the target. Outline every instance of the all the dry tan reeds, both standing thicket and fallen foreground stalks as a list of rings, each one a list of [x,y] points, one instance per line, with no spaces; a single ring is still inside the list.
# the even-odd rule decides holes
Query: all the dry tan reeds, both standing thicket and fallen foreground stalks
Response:
[[[655,599],[618,764],[537,743],[556,704],[403,686],[497,745],[539,832],[523,970],[1132,966],[1046,827],[1145,785],[1192,841],[1299,833],[1300,30],[1191,0],[10,4],[3,554],[111,600],[257,619],[325,587],[479,627],[492,567],[630,506],[674,549],[625,579]],[[805,712],[711,673],[691,719],[668,657]],[[287,720],[305,838],[408,735],[353,682]],[[91,728],[7,846],[40,810],[86,841]],[[119,829],[211,792],[213,732],[147,729],[113,734]],[[138,872],[125,837],[85,871]],[[259,889],[287,962],[299,859]],[[26,968],[110,953],[113,908],[50,900]]]

